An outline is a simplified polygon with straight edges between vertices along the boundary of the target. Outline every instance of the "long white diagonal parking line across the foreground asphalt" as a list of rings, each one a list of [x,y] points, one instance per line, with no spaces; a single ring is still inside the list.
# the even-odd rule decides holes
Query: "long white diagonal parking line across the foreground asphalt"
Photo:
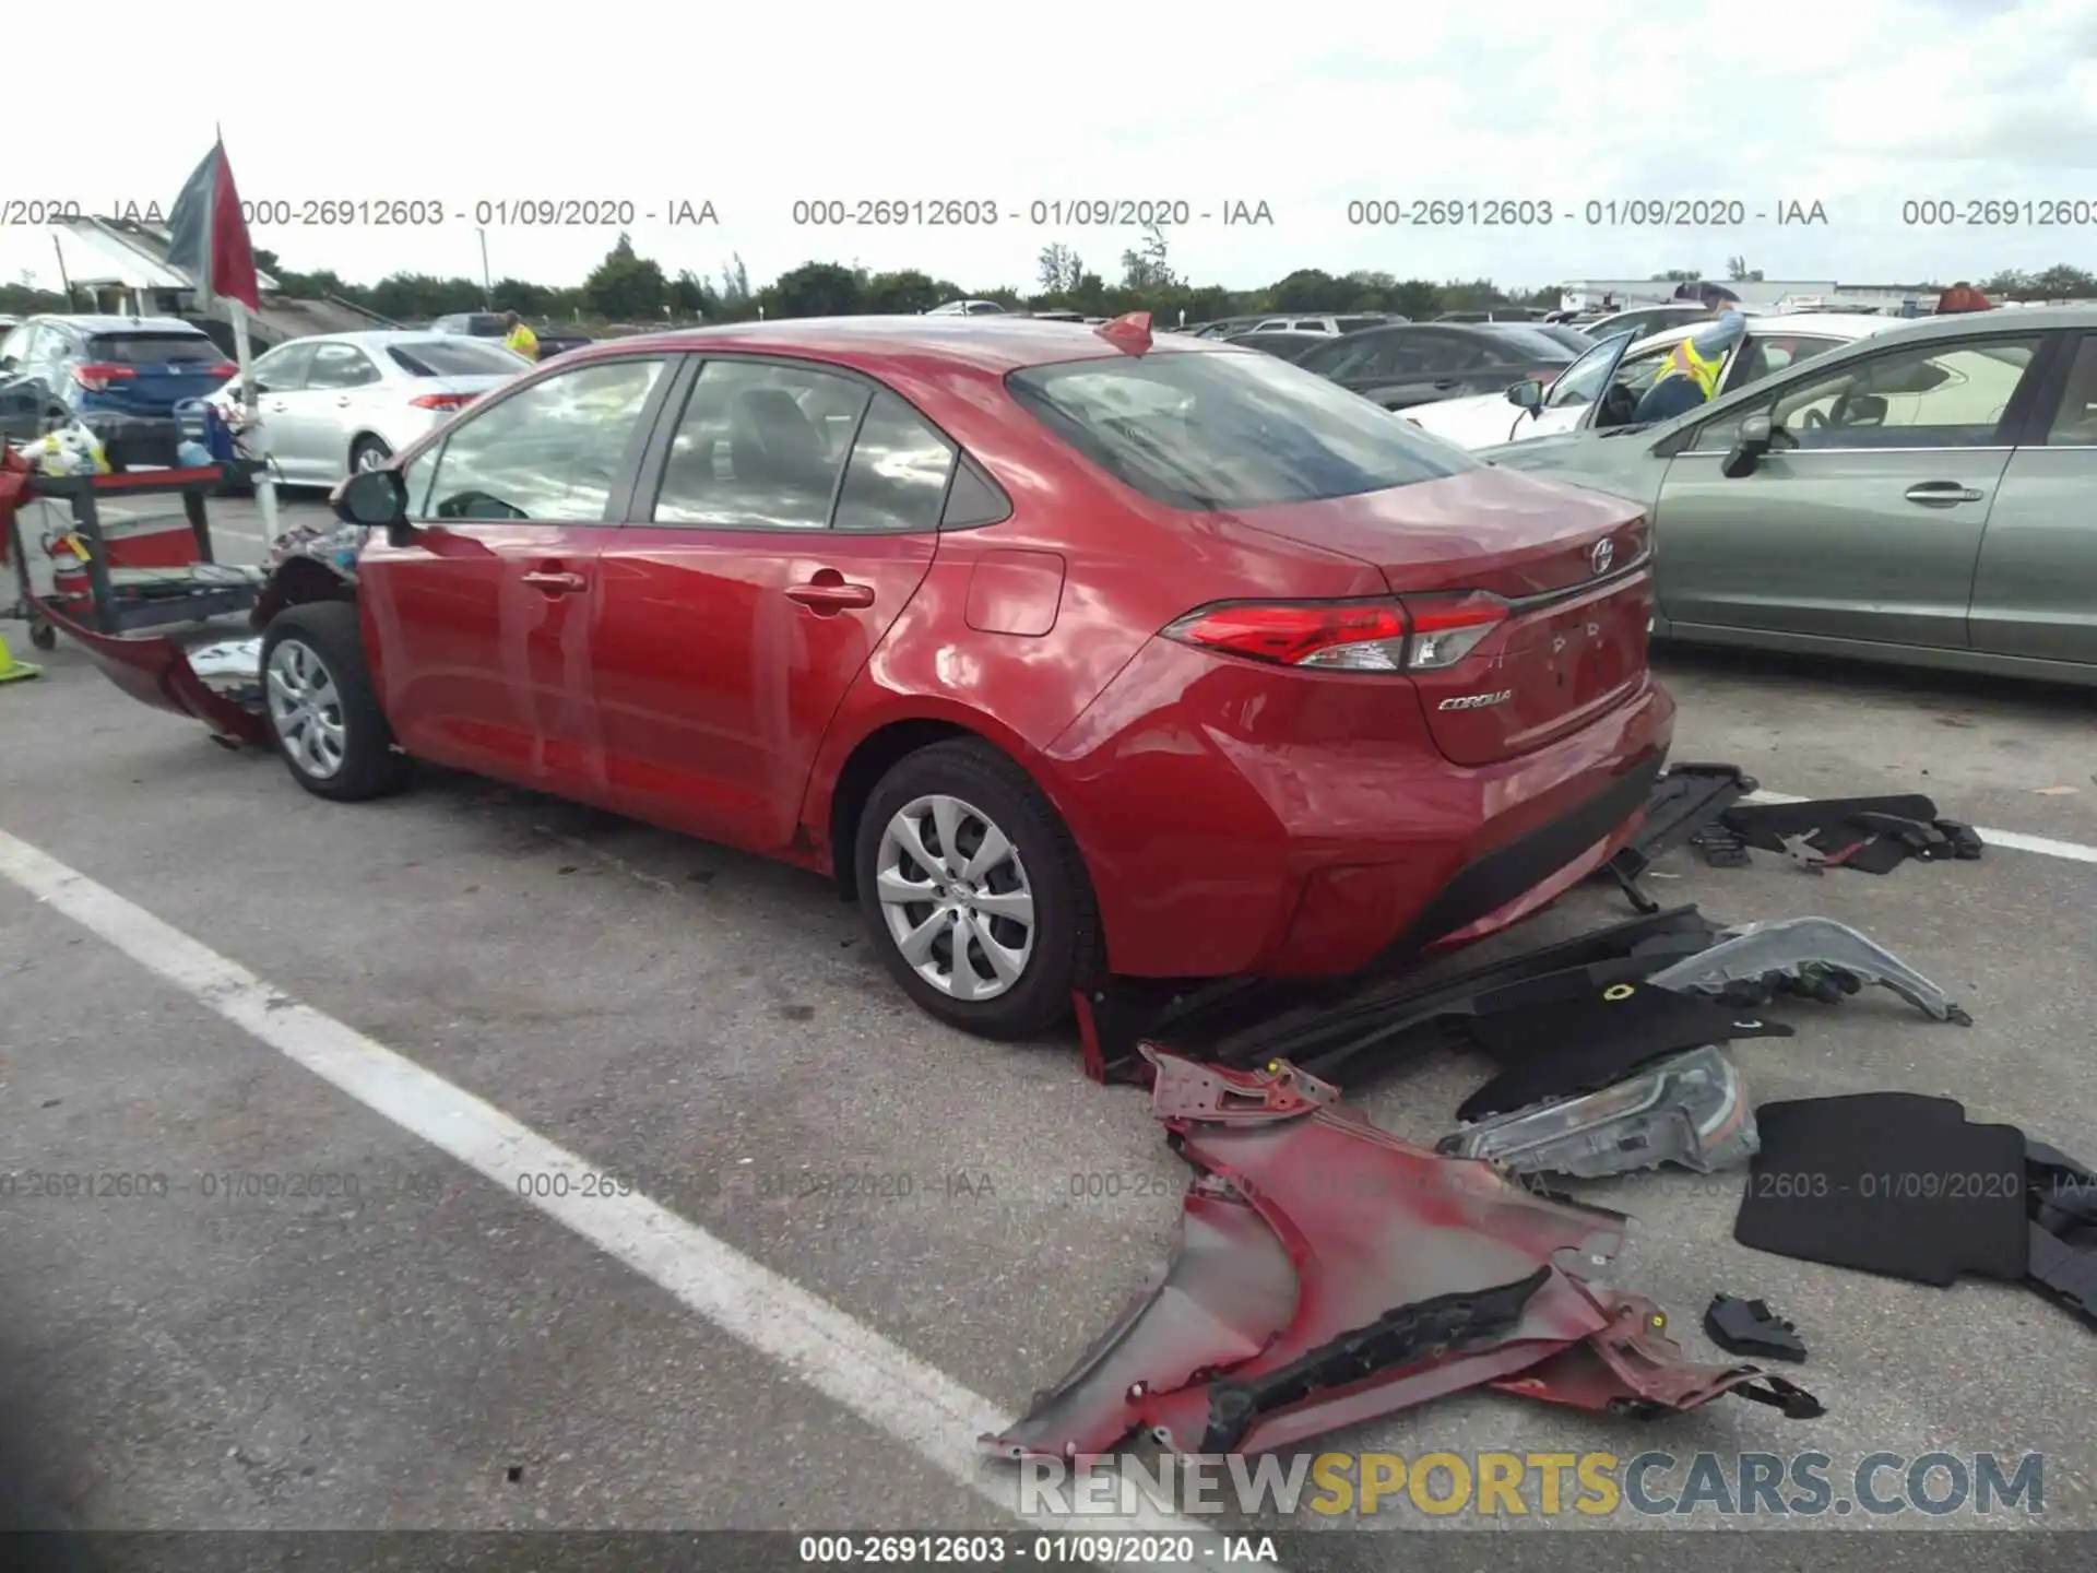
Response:
[[[585,1179],[600,1172],[585,1158],[331,1015],[287,998],[239,963],[6,831],[0,831],[0,875],[285,1059],[669,1290],[732,1338],[1017,1516],[1017,1477],[975,1451],[979,1435],[1011,1426],[990,1399],[665,1206],[644,1195],[583,1195]],[[560,1185],[558,1179],[539,1183],[549,1175],[566,1179],[568,1195],[537,1195]],[[528,1198],[518,1191],[524,1177],[533,1177]],[[1202,1565],[1223,1563],[1216,1531],[1158,1510],[1030,1516],[1025,1525],[1099,1535],[1191,1535]],[[1250,1558],[1233,1558],[1231,1567],[1279,1573],[1273,1563]]]

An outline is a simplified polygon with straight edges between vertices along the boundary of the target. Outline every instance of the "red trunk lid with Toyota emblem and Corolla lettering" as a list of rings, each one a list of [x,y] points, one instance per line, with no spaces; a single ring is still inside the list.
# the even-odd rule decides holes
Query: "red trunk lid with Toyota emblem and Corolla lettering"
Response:
[[[1636,503],[1506,470],[1260,508],[1246,524],[1376,564],[1415,629],[1506,602],[1506,619],[1445,669],[1411,671],[1434,745],[1485,766],[1541,749],[1648,682],[1650,531]]]

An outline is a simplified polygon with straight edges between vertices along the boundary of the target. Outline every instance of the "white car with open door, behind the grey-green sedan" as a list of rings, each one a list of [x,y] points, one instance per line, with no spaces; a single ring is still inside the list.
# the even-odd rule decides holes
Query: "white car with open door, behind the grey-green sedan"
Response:
[[[1797,317],[1749,317],[1747,338],[1726,357],[1717,392],[1745,388],[1787,365],[1856,344],[1860,338],[1902,327],[1904,317],[1862,317],[1847,313],[1801,313]],[[1577,432],[1587,426],[1623,426],[1638,396],[1652,386],[1667,352],[1694,331],[1696,323],[1663,327],[1634,340],[1613,333],[1569,365],[1548,388],[1518,382],[1499,394],[1445,398],[1401,411],[1422,432],[1464,449],[1497,443],[1527,443],[1535,436]],[[1713,394],[1715,396],[1715,394]]]

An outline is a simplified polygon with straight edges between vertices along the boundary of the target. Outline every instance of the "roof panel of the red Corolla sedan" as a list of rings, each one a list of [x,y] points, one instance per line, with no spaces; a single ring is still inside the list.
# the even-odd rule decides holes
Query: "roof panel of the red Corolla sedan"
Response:
[[[1153,325],[1160,350],[1170,354],[1227,354],[1229,344],[1172,333]],[[979,371],[1007,373],[1055,361],[1099,361],[1116,354],[1114,344],[1086,323],[1046,323],[1038,317],[793,317],[770,323],[723,323],[682,327],[663,333],[608,340],[570,350],[562,365],[631,354],[635,350],[749,350],[753,354],[799,354],[845,365],[881,363],[893,357],[939,357]]]

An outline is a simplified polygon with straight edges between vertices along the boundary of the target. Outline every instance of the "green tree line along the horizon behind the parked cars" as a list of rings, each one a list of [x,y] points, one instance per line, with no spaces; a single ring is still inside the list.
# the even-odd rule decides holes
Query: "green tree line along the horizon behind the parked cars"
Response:
[[[853,317],[864,313],[921,313],[948,300],[996,300],[1007,308],[1078,310],[1086,317],[1118,317],[1149,310],[1160,325],[1208,321],[1241,313],[1359,313],[1388,310],[1430,319],[1445,310],[1489,310],[1493,306],[1556,306],[1558,287],[1504,287],[1491,279],[1399,279],[1390,273],[1296,268],[1260,289],[1229,289],[1193,283],[1172,262],[1164,231],[1149,229],[1105,271],[1088,264],[1063,243],[1044,245],[1036,260],[1032,289],[1009,285],[965,287],[916,268],[872,273],[847,262],[803,262],[772,283],[751,287],[749,268],[732,256],[717,273],[690,268],[671,275],[654,258],[633,250],[621,235],[604,260],[579,285],[543,285],[526,279],[442,279],[430,273],[394,273],[377,283],[350,283],[333,271],[285,268],[271,252],[256,252],[256,264],[277,277],[287,296],[348,300],[396,323],[417,323],[457,310],[514,310],[537,323],[732,323],[755,317]],[[1726,258],[1720,275],[1699,268],[1655,273],[1673,279],[1761,279],[1741,256]],[[1975,281],[1990,300],[2057,300],[2097,296],[2097,275],[2059,264],[2040,273],[2003,271]],[[1917,285],[1940,289],[1938,283]],[[31,289],[27,279],[0,285],[0,310],[27,315],[67,310],[61,294]]]

